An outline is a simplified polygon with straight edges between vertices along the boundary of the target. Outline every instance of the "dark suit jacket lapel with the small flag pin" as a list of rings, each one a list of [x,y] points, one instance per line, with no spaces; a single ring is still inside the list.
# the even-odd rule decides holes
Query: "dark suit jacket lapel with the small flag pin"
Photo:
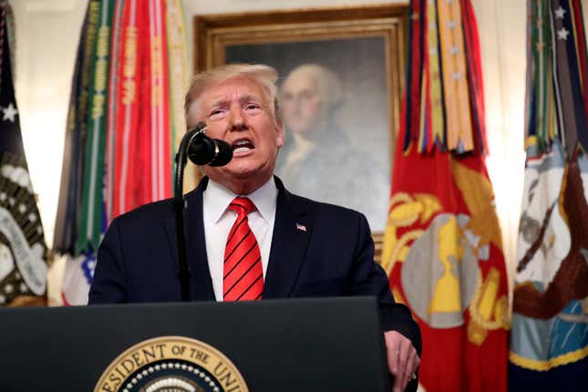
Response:
[[[312,234],[312,215],[296,203],[284,184],[274,177],[278,200],[273,224],[272,248],[265,274],[263,298],[290,296],[304,261]]]

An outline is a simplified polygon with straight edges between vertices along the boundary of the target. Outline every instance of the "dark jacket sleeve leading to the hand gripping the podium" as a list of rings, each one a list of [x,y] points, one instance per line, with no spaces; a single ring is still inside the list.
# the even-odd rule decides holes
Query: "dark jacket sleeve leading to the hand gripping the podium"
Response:
[[[390,292],[384,269],[374,262],[374,242],[366,217],[359,214],[356,260],[351,276],[352,295],[375,295],[379,304],[380,325],[383,331],[397,331],[406,336],[421,354],[420,329],[404,304],[398,304]]]

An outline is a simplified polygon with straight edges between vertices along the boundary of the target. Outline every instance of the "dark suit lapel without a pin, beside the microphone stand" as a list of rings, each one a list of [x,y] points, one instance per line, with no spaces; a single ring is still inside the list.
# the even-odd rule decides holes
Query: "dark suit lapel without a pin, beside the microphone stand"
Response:
[[[186,257],[190,268],[191,299],[194,301],[213,301],[215,299],[211,273],[208,268],[208,257],[206,256],[206,240],[202,219],[202,191],[206,189],[207,184],[208,178],[205,177],[194,191],[185,196],[188,204],[184,215]],[[175,219],[173,216],[165,222],[165,226],[168,232],[168,240],[170,241],[171,254],[174,262],[178,265]]]

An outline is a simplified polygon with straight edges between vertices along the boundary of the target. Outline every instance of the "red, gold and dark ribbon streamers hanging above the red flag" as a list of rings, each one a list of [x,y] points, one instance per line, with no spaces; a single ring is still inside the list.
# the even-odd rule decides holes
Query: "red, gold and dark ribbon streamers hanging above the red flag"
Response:
[[[478,27],[469,0],[415,0],[408,27],[403,147],[485,153]]]

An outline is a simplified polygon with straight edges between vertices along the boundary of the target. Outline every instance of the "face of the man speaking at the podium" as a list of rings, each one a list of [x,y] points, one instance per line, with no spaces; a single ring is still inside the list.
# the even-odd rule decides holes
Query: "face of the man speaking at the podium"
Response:
[[[275,125],[266,96],[252,79],[233,77],[205,89],[192,104],[191,110],[198,112],[191,118],[195,115],[206,122],[207,135],[232,146],[228,165],[204,167],[213,181],[233,190],[235,181],[250,182],[255,188],[272,177],[278,149],[284,145],[284,129]]]

